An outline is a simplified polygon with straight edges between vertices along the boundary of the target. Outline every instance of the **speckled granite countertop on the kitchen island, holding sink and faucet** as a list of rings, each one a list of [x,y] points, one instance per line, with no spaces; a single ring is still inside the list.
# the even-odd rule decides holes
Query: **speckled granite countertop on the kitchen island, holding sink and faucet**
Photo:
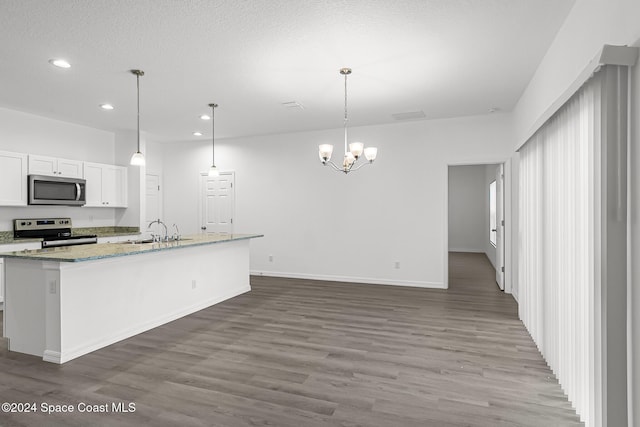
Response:
[[[0,257],[33,259],[38,261],[80,262],[104,258],[138,255],[149,252],[178,250],[193,246],[211,245],[236,240],[263,237],[262,234],[196,234],[182,240],[163,243],[101,243],[95,245],[64,246],[36,250],[0,253]]]

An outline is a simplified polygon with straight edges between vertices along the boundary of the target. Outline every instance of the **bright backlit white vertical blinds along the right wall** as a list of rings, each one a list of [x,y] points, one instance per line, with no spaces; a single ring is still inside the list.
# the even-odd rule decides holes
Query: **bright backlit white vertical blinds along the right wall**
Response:
[[[594,392],[596,73],[520,150],[520,317],[586,425]]]

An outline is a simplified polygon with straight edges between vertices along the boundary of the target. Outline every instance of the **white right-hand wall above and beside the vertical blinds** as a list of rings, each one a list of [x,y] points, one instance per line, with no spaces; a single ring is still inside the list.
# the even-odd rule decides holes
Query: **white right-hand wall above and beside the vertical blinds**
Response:
[[[635,45],[640,39],[640,2],[637,0],[577,0],[553,44],[538,66],[514,110],[515,146],[524,142],[532,125],[578,77],[604,44]],[[629,171],[629,283],[628,389],[629,426],[640,425],[640,77],[633,71],[630,113]],[[517,242],[515,242],[517,245]],[[517,266],[516,266],[517,268]],[[620,307],[624,309],[624,307]],[[614,349],[611,349],[614,351]]]

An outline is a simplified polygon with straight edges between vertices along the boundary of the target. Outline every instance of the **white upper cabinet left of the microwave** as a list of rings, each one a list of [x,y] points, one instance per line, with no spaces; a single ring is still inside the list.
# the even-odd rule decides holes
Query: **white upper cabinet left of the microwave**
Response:
[[[0,206],[27,205],[27,155],[0,151]]]

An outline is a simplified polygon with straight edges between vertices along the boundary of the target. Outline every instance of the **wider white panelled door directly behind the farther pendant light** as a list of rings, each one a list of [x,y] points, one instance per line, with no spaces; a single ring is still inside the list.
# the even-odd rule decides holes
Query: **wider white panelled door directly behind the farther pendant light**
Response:
[[[200,228],[206,233],[232,233],[235,209],[233,172],[201,177]]]

